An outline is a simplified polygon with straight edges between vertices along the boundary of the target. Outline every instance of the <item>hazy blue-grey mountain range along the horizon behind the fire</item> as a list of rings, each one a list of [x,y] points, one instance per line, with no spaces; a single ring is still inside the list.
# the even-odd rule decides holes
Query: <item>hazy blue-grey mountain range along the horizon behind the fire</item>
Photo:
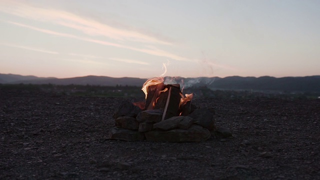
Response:
[[[165,77],[165,83],[180,83],[187,87],[207,86],[211,89],[228,89],[228,90],[268,90],[268,91],[302,91],[302,92],[320,92],[320,75],[304,77]],[[16,74],[1,74],[0,83],[24,83],[24,84],[80,84],[80,85],[130,85],[142,86],[146,81],[144,78],[133,77],[108,77],[108,76],[83,76],[72,78],[55,78],[55,77],[36,77],[32,75],[23,76]]]

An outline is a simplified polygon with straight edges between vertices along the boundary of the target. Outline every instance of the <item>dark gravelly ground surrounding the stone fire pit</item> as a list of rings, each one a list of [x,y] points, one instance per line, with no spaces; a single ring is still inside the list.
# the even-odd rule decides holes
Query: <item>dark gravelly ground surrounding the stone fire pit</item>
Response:
[[[233,138],[108,139],[120,97],[0,89],[0,179],[320,179],[320,99],[194,99]]]

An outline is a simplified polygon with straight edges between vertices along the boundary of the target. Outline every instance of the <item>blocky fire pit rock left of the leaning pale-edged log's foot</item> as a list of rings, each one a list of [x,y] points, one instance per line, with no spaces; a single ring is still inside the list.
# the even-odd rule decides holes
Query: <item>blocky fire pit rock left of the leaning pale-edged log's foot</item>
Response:
[[[162,111],[158,109],[143,110],[137,116],[138,122],[159,122],[162,118]]]

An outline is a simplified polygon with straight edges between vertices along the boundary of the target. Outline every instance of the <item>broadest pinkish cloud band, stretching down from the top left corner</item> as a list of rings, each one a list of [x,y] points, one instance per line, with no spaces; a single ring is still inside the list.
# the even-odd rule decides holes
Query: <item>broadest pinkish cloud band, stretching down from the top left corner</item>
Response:
[[[159,36],[152,36],[134,30],[116,28],[108,24],[101,23],[86,17],[81,17],[63,10],[31,6],[25,3],[25,1],[24,3],[22,3],[13,0],[1,0],[0,11],[23,18],[47,21],[54,24],[66,26],[79,30],[88,35],[105,36],[111,39],[122,41],[128,40],[172,45],[170,41],[166,40],[165,38],[160,39]]]

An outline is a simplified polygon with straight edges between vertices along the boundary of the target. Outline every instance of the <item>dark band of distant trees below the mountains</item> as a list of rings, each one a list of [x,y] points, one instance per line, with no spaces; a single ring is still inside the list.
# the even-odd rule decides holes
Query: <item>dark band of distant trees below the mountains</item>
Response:
[[[114,97],[138,97],[143,98],[144,93],[140,86],[130,85],[56,85],[56,84],[0,84],[0,90],[27,90],[27,91],[44,91],[65,95],[76,96],[114,96]],[[194,98],[210,97],[210,98],[284,98],[284,99],[298,99],[298,98],[319,98],[320,92],[270,92],[270,91],[252,91],[252,90],[212,90],[207,86],[189,87],[183,89],[183,94],[193,93]]]

